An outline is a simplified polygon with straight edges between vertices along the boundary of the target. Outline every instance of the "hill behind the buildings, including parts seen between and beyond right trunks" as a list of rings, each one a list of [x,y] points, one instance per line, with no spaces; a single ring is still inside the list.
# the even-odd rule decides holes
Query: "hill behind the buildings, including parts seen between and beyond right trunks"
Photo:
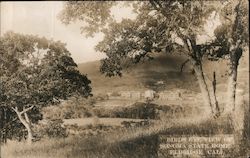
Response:
[[[248,80],[249,72],[249,54],[245,53],[240,60],[239,76]],[[112,91],[121,90],[145,90],[154,89],[171,90],[175,88],[189,89],[193,91],[200,91],[197,79],[192,73],[190,64],[187,64],[183,73],[180,73],[180,66],[186,58],[179,55],[161,54],[155,59],[139,63],[133,67],[123,71],[122,77],[105,77],[99,71],[100,61],[86,62],[78,65],[82,74],[86,74],[92,81],[91,86],[94,94],[102,94]],[[213,80],[213,72],[216,72],[217,89],[225,91],[227,88],[227,61],[205,62],[203,70],[205,72],[208,84]],[[242,71],[244,70],[244,71]],[[156,84],[156,83],[163,84]],[[242,82],[242,81],[241,81]],[[249,84],[249,82],[247,82]],[[211,87],[211,85],[210,85]]]

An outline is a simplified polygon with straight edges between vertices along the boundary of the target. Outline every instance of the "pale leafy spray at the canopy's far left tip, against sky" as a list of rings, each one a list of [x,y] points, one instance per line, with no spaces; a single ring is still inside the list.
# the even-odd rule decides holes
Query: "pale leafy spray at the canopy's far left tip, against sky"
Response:
[[[112,21],[110,9],[115,4],[115,1],[70,1],[65,3],[64,11],[59,17],[64,24],[77,20],[85,21],[81,30],[86,32],[87,36],[93,36],[105,27],[107,21]]]

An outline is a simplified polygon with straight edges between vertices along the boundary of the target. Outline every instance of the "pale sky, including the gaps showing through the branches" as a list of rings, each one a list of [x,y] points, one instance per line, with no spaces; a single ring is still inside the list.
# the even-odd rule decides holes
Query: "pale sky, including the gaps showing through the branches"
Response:
[[[102,34],[86,38],[80,32],[80,22],[64,25],[57,18],[58,13],[63,9],[63,3],[61,1],[0,2],[0,33],[3,35],[6,31],[11,30],[16,33],[60,40],[67,44],[66,47],[76,63],[104,58],[104,53],[94,50],[95,45],[102,40]],[[122,7],[122,5],[112,8],[112,13],[117,21],[121,21],[123,17],[131,19],[136,17],[131,8]],[[213,30],[219,25],[218,17],[211,15],[210,18],[205,25],[206,35],[200,36],[200,42],[211,38]]]

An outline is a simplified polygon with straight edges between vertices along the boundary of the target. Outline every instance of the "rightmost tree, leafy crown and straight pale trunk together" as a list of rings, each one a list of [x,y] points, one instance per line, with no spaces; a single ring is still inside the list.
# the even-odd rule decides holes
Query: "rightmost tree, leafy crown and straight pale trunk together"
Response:
[[[221,12],[223,25],[217,29],[217,41],[224,50],[220,55],[229,57],[227,112],[235,109],[239,61],[249,47],[248,5],[246,0],[229,1]]]

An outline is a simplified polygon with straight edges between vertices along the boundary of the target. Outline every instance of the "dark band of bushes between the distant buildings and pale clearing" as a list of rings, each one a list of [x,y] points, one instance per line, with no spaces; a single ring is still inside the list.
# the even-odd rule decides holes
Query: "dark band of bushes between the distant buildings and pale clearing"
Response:
[[[150,102],[137,102],[127,107],[95,107],[93,114],[98,117],[132,118],[132,119],[160,119],[173,118],[182,115],[198,113],[196,107],[181,105],[157,105]]]

